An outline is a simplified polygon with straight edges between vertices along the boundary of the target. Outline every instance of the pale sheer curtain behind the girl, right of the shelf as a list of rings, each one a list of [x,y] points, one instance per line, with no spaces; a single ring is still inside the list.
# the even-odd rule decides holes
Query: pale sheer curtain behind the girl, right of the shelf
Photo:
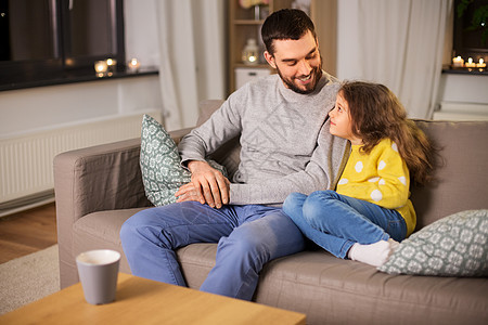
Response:
[[[384,83],[398,95],[409,117],[431,118],[452,0],[341,2],[339,28],[346,26],[344,20],[354,22],[354,27],[346,26],[346,32],[339,32],[347,57],[339,63],[343,66],[338,67],[343,72],[339,77]],[[344,42],[355,43],[348,47]]]

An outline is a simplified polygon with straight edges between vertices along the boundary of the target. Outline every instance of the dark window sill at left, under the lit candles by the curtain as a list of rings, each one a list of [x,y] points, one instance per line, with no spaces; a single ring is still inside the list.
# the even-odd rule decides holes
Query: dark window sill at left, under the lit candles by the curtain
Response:
[[[77,82],[87,82],[87,81],[98,81],[98,80],[111,80],[111,79],[120,79],[120,78],[134,78],[142,76],[152,76],[158,75],[159,72],[154,67],[141,68],[137,73],[130,72],[115,72],[112,76],[105,77],[97,77],[94,72],[77,72],[77,73],[68,73],[60,77],[49,78],[44,80],[27,80],[22,82],[11,82],[0,84],[0,91],[8,90],[17,90],[17,89],[27,89],[27,88],[37,88],[37,87],[46,87],[46,86],[56,86],[56,84],[67,84],[67,83],[77,83]]]

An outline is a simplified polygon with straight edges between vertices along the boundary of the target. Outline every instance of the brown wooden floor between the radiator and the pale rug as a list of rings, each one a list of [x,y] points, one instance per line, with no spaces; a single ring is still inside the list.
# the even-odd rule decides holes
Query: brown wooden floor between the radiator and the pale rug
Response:
[[[57,243],[55,204],[0,218],[0,263]]]

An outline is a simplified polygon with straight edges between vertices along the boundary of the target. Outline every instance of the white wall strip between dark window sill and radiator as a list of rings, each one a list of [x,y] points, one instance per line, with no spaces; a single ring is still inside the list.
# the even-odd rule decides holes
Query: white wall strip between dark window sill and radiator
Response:
[[[0,92],[0,139],[162,107],[158,76]]]

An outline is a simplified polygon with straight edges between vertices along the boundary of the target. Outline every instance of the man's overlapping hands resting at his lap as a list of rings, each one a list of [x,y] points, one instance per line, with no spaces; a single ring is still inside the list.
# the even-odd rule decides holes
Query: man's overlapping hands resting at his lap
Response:
[[[192,181],[182,185],[175,194],[177,202],[196,200],[213,208],[221,208],[229,203],[229,180],[206,161],[193,160],[188,164]]]

